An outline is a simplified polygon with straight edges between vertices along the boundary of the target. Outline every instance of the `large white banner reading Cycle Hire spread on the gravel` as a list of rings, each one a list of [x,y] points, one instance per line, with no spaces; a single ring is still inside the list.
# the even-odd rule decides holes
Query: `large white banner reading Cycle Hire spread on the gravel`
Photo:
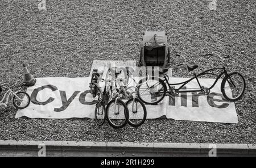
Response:
[[[15,117],[68,119],[72,117],[94,118],[97,99],[90,94],[90,77],[86,78],[36,78],[35,86],[28,87],[30,106],[18,110]],[[171,83],[187,78],[170,78]],[[209,87],[215,79],[200,79]],[[209,95],[198,96],[187,93],[177,97],[166,96],[158,105],[147,105],[147,119],[166,116],[176,120],[208,121],[217,123],[238,123],[236,108],[220,91],[218,81]],[[187,88],[198,87],[196,80]],[[167,87],[168,88],[168,87]]]

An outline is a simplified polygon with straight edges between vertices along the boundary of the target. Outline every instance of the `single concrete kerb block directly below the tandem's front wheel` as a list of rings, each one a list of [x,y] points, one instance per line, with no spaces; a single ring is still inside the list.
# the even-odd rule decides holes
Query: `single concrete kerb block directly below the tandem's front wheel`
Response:
[[[216,145],[216,153],[231,154],[248,154],[249,148],[247,144],[200,144],[200,153],[209,153],[213,149],[212,145]]]

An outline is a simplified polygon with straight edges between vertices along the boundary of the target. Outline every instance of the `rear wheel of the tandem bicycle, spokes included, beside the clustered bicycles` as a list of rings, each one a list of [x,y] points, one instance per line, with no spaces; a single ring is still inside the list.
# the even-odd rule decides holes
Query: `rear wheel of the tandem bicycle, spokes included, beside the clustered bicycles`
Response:
[[[143,82],[146,81],[146,82]],[[166,96],[166,84],[162,79],[151,77],[139,81],[138,98],[145,104],[157,104]]]

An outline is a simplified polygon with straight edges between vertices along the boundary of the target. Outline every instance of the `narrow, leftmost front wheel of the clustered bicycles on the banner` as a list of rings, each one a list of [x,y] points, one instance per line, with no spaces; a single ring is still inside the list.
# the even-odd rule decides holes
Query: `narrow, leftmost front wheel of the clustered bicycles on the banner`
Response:
[[[100,102],[96,104],[96,108],[94,111],[95,121],[98,125],[103,125],[106,120],[106,107],[104,102]]]

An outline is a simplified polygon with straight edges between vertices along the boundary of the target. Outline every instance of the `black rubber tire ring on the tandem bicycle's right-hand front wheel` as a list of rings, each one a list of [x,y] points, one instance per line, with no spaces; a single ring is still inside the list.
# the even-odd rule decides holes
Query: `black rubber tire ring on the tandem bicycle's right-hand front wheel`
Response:
[[[241,79],[242,79],[242,83],[243,83],[242,91],[241,91],[241,93],[239,94],[239,96],[236,97],[236,98],[230,98],[230,97],[226,94],[226,92],[225,92],[225,84],[226,84],[226,82],[228,81],[228,79],[230,78],[230,76],[232,76],[232,75],[238,75],[238,76],[240,76]],[[228,82],[229,82],[229,81],[228,81]],[[246,87],[245,78],[243,77],[242,74],[240,74],[240,73],[238,73],[238,72],[232,72],[232,73],[229,73],[228,75],[225,75],[225,77],[222,79],[222,82],[221,82],[221,92],[222,92],[224,98],[226,98],[226,99],[229,100],[230,102],[235,102],[235,101],[237,101],[237,100],[240,100],[240,99],[242,98],[243,93],[245,93],[245,87]]]

